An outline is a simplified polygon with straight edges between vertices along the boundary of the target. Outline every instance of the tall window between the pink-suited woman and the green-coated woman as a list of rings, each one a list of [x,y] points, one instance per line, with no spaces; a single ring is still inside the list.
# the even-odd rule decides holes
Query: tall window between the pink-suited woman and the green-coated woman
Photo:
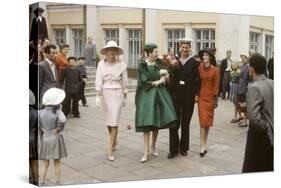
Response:
[[[128,68],[137,68],[142,56],[142,31],[141,29],[128,30]]]

